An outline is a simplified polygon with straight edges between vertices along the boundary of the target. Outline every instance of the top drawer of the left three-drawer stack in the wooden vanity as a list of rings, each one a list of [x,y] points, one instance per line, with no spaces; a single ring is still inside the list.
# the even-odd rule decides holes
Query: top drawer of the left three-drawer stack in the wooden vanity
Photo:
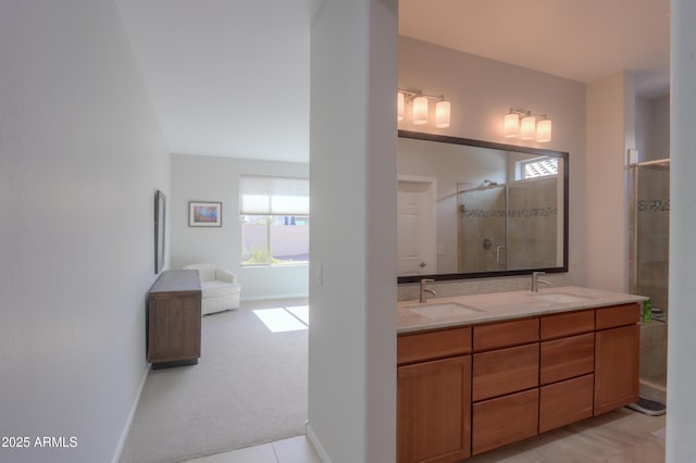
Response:
[[[525,345],[538,340],[538,318],[474,326],[474,351]]]

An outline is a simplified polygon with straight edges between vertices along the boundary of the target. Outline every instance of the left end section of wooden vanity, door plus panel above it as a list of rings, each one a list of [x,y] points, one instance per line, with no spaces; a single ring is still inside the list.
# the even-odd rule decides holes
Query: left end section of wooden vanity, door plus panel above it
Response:
[[[471,328],[397,338],[397,461],[471,455]]]

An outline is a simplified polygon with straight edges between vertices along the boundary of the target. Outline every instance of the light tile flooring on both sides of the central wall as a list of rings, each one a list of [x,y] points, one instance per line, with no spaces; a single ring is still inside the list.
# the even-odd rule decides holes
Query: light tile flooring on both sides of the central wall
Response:
[[[620,409],[464,460],[464,463],[662,463],[666,415]],[[306,436],[187,463],[321,463]]]

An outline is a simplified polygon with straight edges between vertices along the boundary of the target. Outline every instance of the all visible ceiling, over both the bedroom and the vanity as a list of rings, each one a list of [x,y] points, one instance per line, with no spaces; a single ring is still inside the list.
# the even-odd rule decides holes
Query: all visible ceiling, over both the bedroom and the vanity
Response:
[[[116,0],[174,153],[309,161],[321,0]],[[399,0],[399,34],[589,83],[669,91],[669,0]]]

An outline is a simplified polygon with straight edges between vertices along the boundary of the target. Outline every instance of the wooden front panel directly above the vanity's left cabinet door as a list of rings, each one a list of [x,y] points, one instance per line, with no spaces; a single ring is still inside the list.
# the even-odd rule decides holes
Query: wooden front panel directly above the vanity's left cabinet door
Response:
[[[471,327],[397,337],[397,364],[444,359],[471,352]]]

